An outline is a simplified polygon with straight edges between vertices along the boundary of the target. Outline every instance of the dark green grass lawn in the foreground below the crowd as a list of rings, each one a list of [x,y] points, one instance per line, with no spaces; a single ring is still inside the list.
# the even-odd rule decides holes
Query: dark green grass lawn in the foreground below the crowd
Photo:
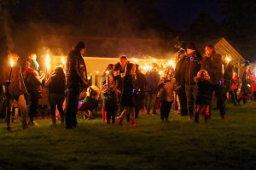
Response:
[[[187,117],[141,115],[138,127],[107,125],[101,118],[79,128],[38,127],[12,132],[0,123],[0,169],[256,169],[256,103],[228,105],[199,124]]]

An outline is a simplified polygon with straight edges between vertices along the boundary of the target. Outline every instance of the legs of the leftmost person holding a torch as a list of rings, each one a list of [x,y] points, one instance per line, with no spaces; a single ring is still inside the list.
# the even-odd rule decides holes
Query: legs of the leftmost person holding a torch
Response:
[[[20,113],[21,113],[21,122],[22,122],[22,127],[26,128],[27,122],[26,122],[26,100],[23,94],[19,96],[12,96],[7,94],[6,96],[6,105],[7,105],[7,110],[6,110],[6,124],[7,128],[11,128],[11,112],[12,112],[12,105],[14,102],[14,99],[17,100],[18,105],[20,107]]]

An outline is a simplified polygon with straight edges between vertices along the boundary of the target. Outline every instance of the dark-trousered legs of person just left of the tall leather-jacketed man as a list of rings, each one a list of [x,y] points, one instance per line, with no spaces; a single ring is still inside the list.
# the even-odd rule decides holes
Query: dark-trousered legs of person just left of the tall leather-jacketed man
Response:
[[[64,100],[65,94],[49,94],[50,116],[53,124],[56,124],[56,105],[61,116],[61,123],[64,123],[64,111],[62,107]]]

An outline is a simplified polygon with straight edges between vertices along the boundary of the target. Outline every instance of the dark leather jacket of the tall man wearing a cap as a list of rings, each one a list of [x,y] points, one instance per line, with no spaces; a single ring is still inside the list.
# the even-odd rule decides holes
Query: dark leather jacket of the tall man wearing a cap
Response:
[[[86,65],[79,50],[73,49],[67,56],[67,88],[87,86]]]

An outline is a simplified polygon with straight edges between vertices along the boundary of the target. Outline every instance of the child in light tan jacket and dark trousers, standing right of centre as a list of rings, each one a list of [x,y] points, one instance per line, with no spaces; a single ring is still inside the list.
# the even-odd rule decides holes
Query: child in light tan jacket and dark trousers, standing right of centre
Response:
[[[165,71],[165,77],[160,79],[159,94],[160,94],[160,118],[162,121],[168,121],[169,113],[172,109],[174,100],[174,84],[175,79],[172,77],[173,71],[168,68]]]

